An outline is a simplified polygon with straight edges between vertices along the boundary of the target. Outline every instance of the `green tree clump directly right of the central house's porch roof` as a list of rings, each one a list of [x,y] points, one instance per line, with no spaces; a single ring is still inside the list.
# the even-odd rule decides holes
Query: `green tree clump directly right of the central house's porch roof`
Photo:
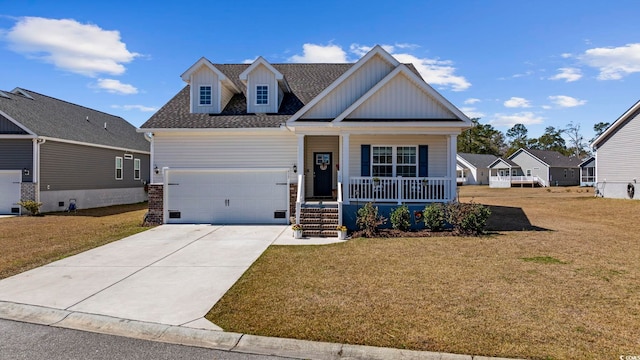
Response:
[[[471,119],[473,126],[458,136],[458,152],[500,156],[505,148],[504,135],[493,126]]]

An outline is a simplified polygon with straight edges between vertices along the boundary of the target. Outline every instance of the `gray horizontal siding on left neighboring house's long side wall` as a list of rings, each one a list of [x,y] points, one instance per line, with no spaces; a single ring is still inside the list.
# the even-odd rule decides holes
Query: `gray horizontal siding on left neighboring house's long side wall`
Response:
[[[140,180],[134,179],[134,160],[125,151],[48,140],[40,145],[40,190],[122,189],[144,186],[149,179],[149,155],[140,159]],[[116,180],[115,158],[123,158],[122,180]]]

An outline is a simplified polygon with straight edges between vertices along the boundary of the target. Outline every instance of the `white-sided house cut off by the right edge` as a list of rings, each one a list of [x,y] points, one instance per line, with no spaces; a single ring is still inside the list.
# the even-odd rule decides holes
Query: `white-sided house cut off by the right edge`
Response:
[[[638,199],[640,189],[640,101],[598,136],[591,147],[596,156],[596,188],[607,198]]]

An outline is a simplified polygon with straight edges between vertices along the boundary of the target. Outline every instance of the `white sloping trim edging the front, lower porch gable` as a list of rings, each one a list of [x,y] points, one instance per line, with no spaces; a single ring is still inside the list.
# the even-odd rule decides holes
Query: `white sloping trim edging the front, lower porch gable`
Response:
[[[369,91],[367,91],[364,95],[362,95],[358,100],[356,100],[351,106],[346,108],[340,115],[336,116],[336,118],[332,121],[333,123],[341,122],[347,116],[349,116],[353,111],[355,111],[360,105],[362,105],[365,101],[369,100],[376,92],[378,92],[382,87],[388,84],[391,80],[393,80],[396,76],[403,74],[408,80],[413,81],[419,88],[421,88],[425,93],[433,97],[436,101],[438,101],[441,105],[443,105],[447,110],[451,111],[453,115],[457,116],[458,119],[451,119],[451,121],[462,120],[465,127],[471,126],[471,120],[465,115],[462,111],[460,111],[457,107],[451,104],[444,96],[442,96],[439,92],[437,92],[434,88],[432,88],[429,84],[427,84],[424,80],[419,78],[416,74],[414,74],[409,68],[404,65],[398,65],[393,71],[391,71],[387,76],[382,78],[375,86],[373,86]]]

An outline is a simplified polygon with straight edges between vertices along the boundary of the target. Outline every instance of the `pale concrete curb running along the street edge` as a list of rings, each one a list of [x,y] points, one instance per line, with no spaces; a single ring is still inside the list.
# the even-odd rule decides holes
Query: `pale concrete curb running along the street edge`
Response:
[[[5,301],[0,301],[0,318],[141,340],[298,359],[509,360],[485,356],[247,335],[127,320]]]

